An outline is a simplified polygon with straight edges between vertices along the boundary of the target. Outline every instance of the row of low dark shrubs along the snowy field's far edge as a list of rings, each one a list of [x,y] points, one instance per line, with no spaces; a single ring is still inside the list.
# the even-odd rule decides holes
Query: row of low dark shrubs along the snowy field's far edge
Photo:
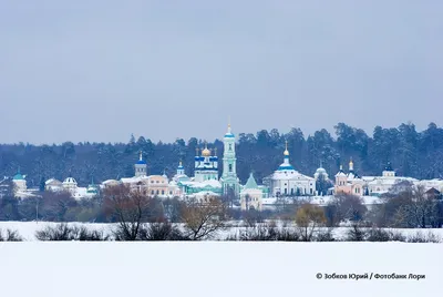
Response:
[[[186,228],[186,226],[185,226]],[[193,240],[186,236],[176,225],[171,223],[142,224],[136,238],[121,238],[120,227],[105,233],[103,229],[89,229],[85,226],[68,225],[61,223],[47,226],[37,231],[34,236],[41,242],[177,242]],[[194,240],[207,240],[198,238]],[[22,242],[23,237],[17,231],[0,229],[0,242]],[[442,243],[442,238],[433,232],[415,232],[404,235],[400,231],[383,228],[362,228],[353,224],[343,235],[334,235],[333,229],[319,229],[315,234],[306,236],[302,228],[278,227],[274,222],[262,223],[256,226],[246,226],[239,233],[228,235],[218,240],[226,242],[401,242],[401,243]]]

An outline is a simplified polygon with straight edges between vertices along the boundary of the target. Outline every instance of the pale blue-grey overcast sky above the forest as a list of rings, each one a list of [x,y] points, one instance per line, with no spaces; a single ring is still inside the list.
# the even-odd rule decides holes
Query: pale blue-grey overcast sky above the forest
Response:
[[[1,1],[0,142],[443,125],[443,1]]]

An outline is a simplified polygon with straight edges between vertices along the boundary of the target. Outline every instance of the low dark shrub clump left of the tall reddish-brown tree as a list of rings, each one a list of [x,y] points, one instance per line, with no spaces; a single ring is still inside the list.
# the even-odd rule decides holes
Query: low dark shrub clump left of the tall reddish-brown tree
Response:
[[[47,226],[44,229],[35,232],[35,238],[43,242],[102,242],[109,240],[110,236],[104,235],[101,231],[89,231],[84,226],[69,226],[63,223],[55,226]]]

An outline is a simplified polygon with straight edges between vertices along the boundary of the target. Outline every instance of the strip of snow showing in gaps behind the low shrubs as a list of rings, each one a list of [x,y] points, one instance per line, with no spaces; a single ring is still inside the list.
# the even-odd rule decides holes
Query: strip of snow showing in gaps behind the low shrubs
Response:
[[[18,231],[19,234],[24,238],[24,240],[37,240],[34,237],[34,234],[37,231],[43,229],[45,226],[54,226],[58,223],[49,223],[49,222],[0,222],[0,229],[3,232],[8,228]],[[245,227],[241,227],[243,225],[239,224],[238,222],[233,222],[231,223],[234,227],[228,228],[226,231],[223,231],[218,234],[218,239],[224,239],[228,237],[229,235],[235,235],[239,234],[241,231],[245,229]],[[99,229],[103,231],[105,234],[111,234],[112,228],[115,227],[114,224],[83,224],[83,223],[69,223],[69,225],[76,225],[76,226],[86,226],[90,229]],[[291,226],[289,226],[291,227]],[[348,228],[347,227],[340,227],[340,228],[333,228],[333,236],[334,238],[342,238],[346,236]],[[436,236],[439,236],[442,239],[443,244],[443,228],[439,229],[392,229],[392,231],[398,231],[404,234],[405,236],[410,236],[413,234],[416,234],[418,232],[426,235],[427,233],[432,232]]]

